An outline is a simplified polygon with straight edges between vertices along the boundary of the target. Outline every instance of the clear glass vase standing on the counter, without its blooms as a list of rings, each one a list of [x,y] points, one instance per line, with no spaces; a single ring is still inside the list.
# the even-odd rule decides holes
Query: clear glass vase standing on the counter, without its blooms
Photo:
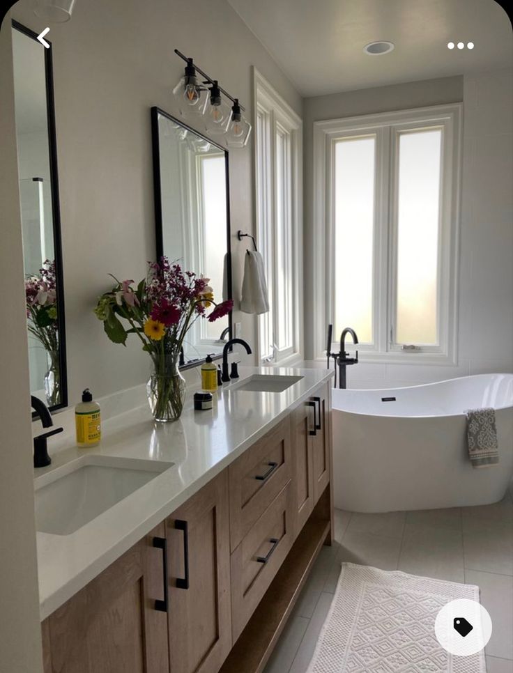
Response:
[[[185,402],[185,379],[178,369],[177,358],[164,356],[153,361],[146,392],[155,421],[165,423],[181,417]]]

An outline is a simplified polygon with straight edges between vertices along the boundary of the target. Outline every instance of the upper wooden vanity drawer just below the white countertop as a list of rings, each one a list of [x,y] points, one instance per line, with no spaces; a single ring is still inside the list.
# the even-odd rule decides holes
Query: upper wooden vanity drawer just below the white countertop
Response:
[[[231,463],[228,479],[230,549],[233,552],[291,479],[290,418],[280,421]]]

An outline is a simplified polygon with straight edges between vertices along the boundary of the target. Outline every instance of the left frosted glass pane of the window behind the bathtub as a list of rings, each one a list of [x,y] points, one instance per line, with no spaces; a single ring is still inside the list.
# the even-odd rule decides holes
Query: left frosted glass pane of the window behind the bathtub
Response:
[[[372,343],[376,137],[335,142],[335,335]]]

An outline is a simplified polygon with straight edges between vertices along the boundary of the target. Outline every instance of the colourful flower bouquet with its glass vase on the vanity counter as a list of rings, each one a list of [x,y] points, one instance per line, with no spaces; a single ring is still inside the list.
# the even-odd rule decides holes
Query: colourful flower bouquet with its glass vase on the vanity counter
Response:
[[[153,417],[174,421],[185,399],[185,381],[178,369],[185,334],[198,318],[212,323],[226,316],[233,301],[216,304],[208,278],[183,271],[167,257],[148,262],[148,274],[135,289],[134,281],[113,278],[116,285],[99,298],[95,315],[114,343],[125,345],[128,334],[137,334],[153,364],[147,385]],[[214,308],[207,316],[210,306]]]

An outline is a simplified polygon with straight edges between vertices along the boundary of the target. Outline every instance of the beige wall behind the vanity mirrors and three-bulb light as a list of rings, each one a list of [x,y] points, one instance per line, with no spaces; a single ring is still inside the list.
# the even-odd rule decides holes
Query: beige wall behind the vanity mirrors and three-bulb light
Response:
[[[13,17],[45,22],[20,0]],[[302,99],[226,0],[78,0],[72,20],[52,24],[57,150],[70,403],[144,382],[148,357],[137,339],[110,343],[91,313],[107,273],[139,279],[155,258],[150,108],[177,114],[171,89],[183,73],[177,47],[237,95],[251,116],[251,65],[301,114]],[[190,120],[188,120],[190,121]],[[192,121],[190,121],[192,123]],[[231,227],[252,231],[252,148],[230,152]],[[234,293],[241,252],[232,237]],[[256,343],[256,320],[235,312]]]

